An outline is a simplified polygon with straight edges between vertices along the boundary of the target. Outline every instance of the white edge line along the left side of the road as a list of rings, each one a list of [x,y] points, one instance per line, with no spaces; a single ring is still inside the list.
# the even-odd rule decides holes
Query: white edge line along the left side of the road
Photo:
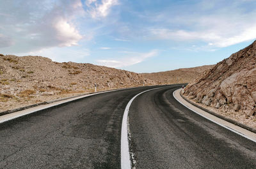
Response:
[[[113,91],[122,91],[122,90],[124,90],[124,89],[116,89],[116,90],[113,90]],[[106,93],[106,92],[113,92],[113,91],[102,91],[102,92],[97,92],[97,93],[92,93],[92,94],[85,94],[83,96],[77,96],[76,98],[70,98],[70,99],[65,99],[65,100],[62,100],[62,101],[56,101],[56,103],[49,103],[49,105],[40,105],[40,106],[38,106],[40,108],[38,108],[36,110],[29,111],[30,108],[25,109],[25,110],[20,110],[19,112],[24,112],[24,113],[20,113],[19,114],[19,112],[13,112],[12,114],[17,114],[17,115],[13,115],[12,117],[3,118],[6,115],[9,116],[9,115],[12,115],[12,114],[1,115],[0,116],[0,124],[3,123],[3,122],[6,122],[6,121],[11,121],[12,119],[16,119],[18,117],[22,117],[24,115],[33,114],[35,112],[38,112],[40,110],[44,110],[46,108],[51,108],[51,107],[55,107],[57,105],[61,105],[63,103],[74,101],[76,99],[86,98],[86,97],[89,97],[89,96],[93,96],[93,95],[97,95],[97,94],[102,94],[102,93]],[[32,107],[32,109],[34,109],[34,108],[36,108],[36,107]]]

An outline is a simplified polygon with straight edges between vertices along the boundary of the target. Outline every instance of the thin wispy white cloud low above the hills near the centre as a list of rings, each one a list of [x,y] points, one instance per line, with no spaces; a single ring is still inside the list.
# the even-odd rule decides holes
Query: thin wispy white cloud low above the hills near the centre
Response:
[[[102,59],[97,60],[97,63],[102,66],[108,66],[112,68],[122,68],[125,66],[131,66],[145,61],[148,57],[154,57],[158,54],[158,50],[152,50],[147,53],[138,53],[136,55],[129,55],[120,59]]]

